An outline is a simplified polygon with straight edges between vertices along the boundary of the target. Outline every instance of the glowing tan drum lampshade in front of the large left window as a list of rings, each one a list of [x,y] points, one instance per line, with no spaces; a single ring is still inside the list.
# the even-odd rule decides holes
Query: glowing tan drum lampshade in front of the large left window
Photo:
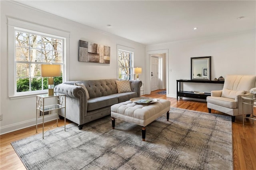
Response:
[[[41,76],[42,77],[58,77],[61,75],[60,65],[58,64],[42,64]]]

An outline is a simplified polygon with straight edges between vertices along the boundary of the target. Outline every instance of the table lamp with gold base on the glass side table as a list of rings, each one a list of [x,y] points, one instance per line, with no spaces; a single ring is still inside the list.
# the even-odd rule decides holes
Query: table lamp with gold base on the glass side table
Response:
[[[60,65],[57,64],[42,64],[41,76],[48,77],[48,95],[54,95],[54,78],[61,75]]]

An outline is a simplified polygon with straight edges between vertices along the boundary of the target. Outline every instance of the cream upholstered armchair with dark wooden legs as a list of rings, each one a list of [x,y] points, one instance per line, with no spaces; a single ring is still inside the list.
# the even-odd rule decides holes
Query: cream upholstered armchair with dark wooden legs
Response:
[[[227,75],[222,90],[211,91],[206,98],[209,113],[211,109],[231,115],[232,122],[236,116],[252,114],[252,107],[244,105],[242,108],[242,95],[250,95],[250,89],[256,87],[256,75]]]

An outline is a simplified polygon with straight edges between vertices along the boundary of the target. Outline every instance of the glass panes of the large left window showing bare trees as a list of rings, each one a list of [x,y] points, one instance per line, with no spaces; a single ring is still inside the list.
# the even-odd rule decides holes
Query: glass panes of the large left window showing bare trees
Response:
[[[58,63],[63,72],[63,40],[20,31],[15,35],[16,91],[48,89],[47,77],[41,77],[41,64]],[[62,76],[54,78],[54,85],[62,83]]]

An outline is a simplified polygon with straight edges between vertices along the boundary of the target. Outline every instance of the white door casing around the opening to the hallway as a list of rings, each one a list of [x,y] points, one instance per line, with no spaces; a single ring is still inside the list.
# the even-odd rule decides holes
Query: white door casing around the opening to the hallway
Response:
[[[150,94],[151,90],[151,55],[165,53],[165,61],[166,61],[166,96],[168,97],[169,94],[169,50],[168,49],[161,49],[161,50],[152,50],[146,52],[146,86],[145,86],[145,93]],[[164,64],[164,63],[163,63]]]

